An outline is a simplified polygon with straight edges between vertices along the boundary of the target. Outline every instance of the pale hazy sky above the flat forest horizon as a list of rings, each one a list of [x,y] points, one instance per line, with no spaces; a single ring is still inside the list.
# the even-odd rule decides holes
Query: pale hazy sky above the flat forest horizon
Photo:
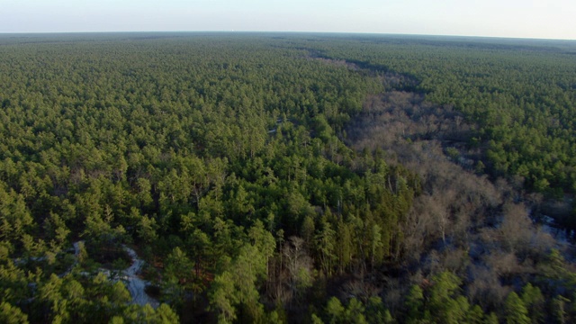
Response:
[[[575,0],[0,0],[0,33],[320,31],[576,40]]]

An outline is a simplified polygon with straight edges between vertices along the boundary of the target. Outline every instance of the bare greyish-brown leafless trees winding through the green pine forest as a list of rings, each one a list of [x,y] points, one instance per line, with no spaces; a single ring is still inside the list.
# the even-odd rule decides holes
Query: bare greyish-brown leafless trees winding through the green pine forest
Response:
[[[482,174],[479,148],[465,144],[473,131],[452,107],[401,91],[369,97],[346,130],[347,144],[357,151],[383,149],[388,163],[407,166],[422,179],[423,192],[403,223],[401,267],[408,275],[383,278],[391,310],[402,287],[425,284],[446,270],[464,279],[471,301],[498,310],[513,279],[526,282],[554,247],[554,238],[518,202],[514,186]]]

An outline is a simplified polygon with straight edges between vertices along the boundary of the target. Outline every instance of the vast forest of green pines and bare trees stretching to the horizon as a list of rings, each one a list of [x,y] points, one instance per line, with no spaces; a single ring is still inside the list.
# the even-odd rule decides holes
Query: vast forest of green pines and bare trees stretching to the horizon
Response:
[[[0,322],[576,320],[575,55],[0,35]]]

